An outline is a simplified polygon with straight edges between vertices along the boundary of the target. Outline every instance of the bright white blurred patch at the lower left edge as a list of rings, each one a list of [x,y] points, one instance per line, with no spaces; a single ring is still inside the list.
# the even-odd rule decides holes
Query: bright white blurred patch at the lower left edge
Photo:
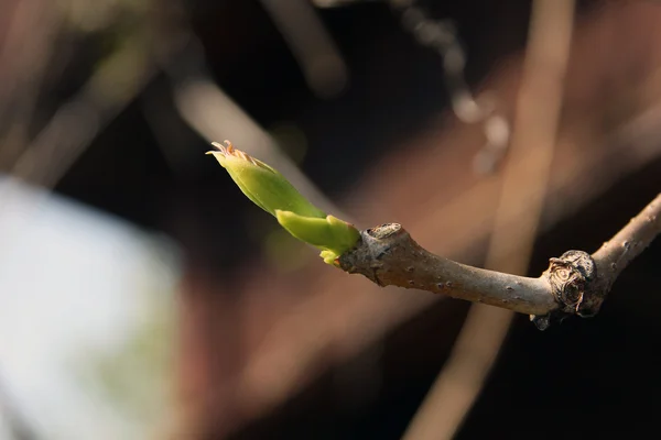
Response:
[[[12,417],[45,440],[160,437],[174,400],[176,246],[9,178],[0,243],[0,440],[17,437]]]

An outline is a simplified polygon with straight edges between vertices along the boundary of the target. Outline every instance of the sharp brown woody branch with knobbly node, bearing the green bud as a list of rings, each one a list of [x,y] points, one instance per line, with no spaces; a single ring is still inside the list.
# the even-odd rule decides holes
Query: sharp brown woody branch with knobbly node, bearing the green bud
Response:
[[[567,251],[539,278],[477,268],[420,246],[399,223],[361,231],[339,266],[379,286],[416,288],[529,314],[544,330],[552,317],[598,312],[617,276],[661,233],[661,194],[610,241],[589,255]]]

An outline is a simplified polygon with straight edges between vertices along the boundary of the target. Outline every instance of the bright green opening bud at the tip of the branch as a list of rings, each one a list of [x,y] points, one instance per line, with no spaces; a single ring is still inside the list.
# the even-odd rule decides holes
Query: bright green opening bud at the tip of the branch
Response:
[[[274,216],[292,235],[322,250],[328,264],[350,250],[360,234],[354,226],[317,209],[282,174],[263,162],[214,142],[218,151],[208,152],[227,169],[241,191],[258,207]]]

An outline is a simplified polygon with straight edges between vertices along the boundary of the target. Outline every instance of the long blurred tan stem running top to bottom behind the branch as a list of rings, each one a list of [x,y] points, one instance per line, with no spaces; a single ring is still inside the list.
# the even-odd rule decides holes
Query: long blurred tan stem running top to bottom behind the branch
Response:
[[[514,274],[528,268],[556,142],[573,15],[573,0],[533,2],[516,129],[487,254],[489,268]],[[537,154],[529,156],[527,150]],[[527,216],[509,221],[512,207],[519,204],[527,205]],[[404,439],[454,436],[496,361],[511,319],[511,312],[473,306],[447,365]]]

